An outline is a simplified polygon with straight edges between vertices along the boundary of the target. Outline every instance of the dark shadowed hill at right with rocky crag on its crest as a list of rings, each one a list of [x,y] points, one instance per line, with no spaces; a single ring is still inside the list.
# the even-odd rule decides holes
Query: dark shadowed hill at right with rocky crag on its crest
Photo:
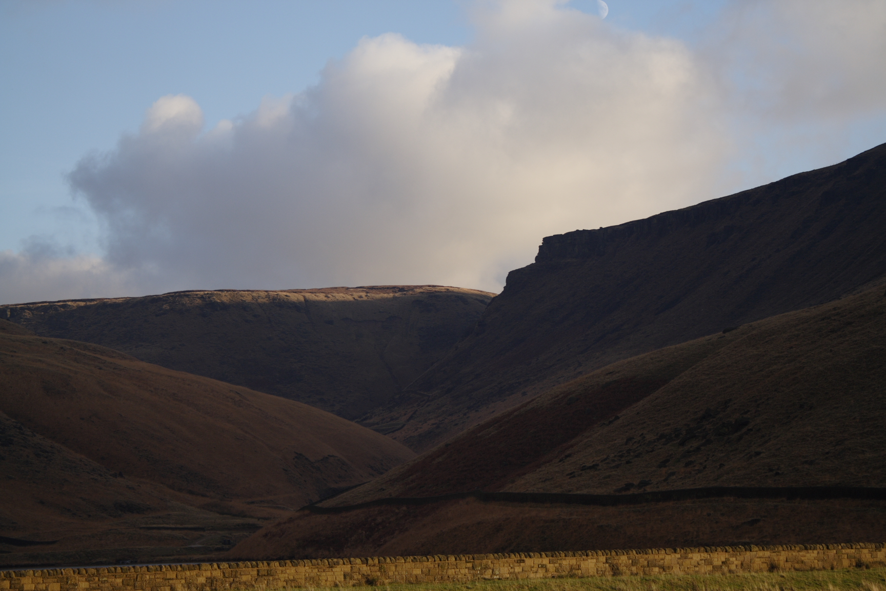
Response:
[[[886,275],[886,144],[832,167],[546,237],[477,328],[367,420],[429,449],[619,359],[814,306]]]

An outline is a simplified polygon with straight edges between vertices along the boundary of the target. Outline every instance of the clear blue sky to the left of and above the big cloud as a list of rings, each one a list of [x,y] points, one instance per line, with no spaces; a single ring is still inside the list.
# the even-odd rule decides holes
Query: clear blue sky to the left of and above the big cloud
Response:
[[[4,0],[0,11],[0,250],[35,233],[97,248],[88,212],[56,209],[73,205],[63,175],[136,131],[159,97],[190,95],[215,122],[315,84],[364,35],[470,37],[459,4],[439,0]]]

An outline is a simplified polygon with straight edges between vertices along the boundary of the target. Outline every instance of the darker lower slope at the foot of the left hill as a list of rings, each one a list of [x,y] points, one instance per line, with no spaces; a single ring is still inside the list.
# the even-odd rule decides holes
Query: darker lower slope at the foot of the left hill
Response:
[[[248,505],[229,511],[239,516],[199,509],[206,498],[121,476],[3,413],[0,474],[3,566],[194,560],[285,514]]]

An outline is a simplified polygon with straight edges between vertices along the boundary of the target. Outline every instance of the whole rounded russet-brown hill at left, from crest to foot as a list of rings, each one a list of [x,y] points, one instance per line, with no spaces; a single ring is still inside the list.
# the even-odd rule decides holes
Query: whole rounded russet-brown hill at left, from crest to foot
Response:
[[[211,553],[414,456],[318,408],[0,320],[0,564]],[[196,532],[217,540],[185,551],[211,537]]]

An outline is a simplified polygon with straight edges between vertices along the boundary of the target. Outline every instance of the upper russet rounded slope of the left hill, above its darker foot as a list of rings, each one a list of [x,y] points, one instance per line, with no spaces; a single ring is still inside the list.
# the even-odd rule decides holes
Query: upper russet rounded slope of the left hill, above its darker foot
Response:
[[[299,402],[11,331],[0,331],[0,411],[106,469],[207,501],[299,506],[413,456]]]

